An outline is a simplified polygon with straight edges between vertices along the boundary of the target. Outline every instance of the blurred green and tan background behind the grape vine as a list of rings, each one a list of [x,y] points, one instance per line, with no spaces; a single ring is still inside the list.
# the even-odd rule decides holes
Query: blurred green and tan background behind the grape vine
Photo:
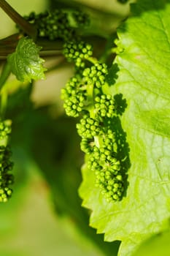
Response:
[[[50,8],[83,9],[92,23],[87,34],[112,37],[129,13],[129,3],[113,0],[9,0],[21,15]],[[0,38],[15,33],[15,24],[0,10]],[[55,57],[47,65],[55,64]],[[1,61],[1,64],[3,62]],[[47,79],[22,84],[7,82],[6,116],[12,119],[14,193],[0,205],[0,255],[79,256],[117,255],[119,242],[104,242],[88,225],[89,212],[81,207],[83,154],[75,120],[63,113],[60,90],[72,67],[53,70]]]

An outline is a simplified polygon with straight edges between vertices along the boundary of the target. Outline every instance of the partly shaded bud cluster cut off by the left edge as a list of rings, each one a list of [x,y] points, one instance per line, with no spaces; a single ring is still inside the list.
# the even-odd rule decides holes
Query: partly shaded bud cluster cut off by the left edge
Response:
[[[0,122],[0,202],[7,202],[12,195],[10,185],[13,183],[13,175],[10,173],[13,163],[10,160],[11,151],[7,146],[8,136],[11,132],[11,121]]]

